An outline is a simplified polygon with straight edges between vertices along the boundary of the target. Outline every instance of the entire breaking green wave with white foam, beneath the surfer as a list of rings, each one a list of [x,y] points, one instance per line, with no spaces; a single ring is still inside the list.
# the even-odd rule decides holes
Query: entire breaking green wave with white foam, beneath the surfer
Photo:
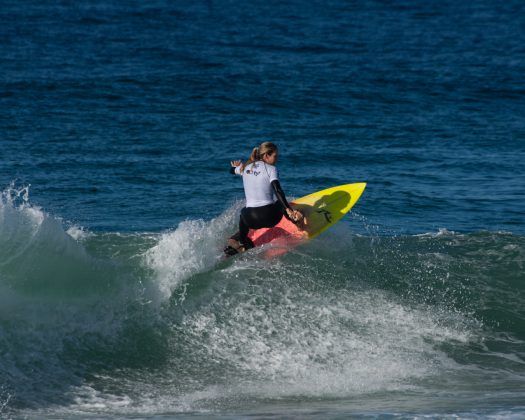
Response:
[[[256,249],[221,261],[238,207],[162,234],[91,233],[31,205],[27,189],[5,190],[0,412],[522,404],[525,238],[379,236],[351,216],[370,235],[341,223],[278,259]]]

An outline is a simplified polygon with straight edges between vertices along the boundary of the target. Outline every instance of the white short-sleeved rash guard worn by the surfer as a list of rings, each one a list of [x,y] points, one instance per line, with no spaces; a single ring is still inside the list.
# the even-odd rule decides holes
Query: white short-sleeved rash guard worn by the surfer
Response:
[[[235,168],[235,174],[242,176],[246,207],[262,207],[275,202],[272,181],[278,181],[277,168],[261,160],[250,163],[241,173],[241,167]]]

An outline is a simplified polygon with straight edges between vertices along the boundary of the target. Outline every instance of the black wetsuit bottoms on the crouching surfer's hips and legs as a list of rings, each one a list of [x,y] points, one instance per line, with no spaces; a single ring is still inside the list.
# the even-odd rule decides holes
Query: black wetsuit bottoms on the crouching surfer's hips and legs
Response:
[[[266,206],[243,208],[241,210],[241,218],[239,220],[238,241],[244,245],[246,249],[252,248],[253,243],[250,241],[250,239],[248,239],[248,232],[250,229],[274,227],[280,222],[283,215],[283,207],[278,201]]]

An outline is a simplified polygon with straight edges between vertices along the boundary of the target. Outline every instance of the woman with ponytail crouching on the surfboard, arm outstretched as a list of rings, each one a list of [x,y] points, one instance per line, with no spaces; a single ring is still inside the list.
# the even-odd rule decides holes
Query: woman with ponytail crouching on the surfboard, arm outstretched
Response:
[[[277,146],[265,142],[253,149],[244,164],[240,160],[231,162],[230,172],[242,176],[246,207],[241,210],[239,232],[230,238],[224,249],[227,255],[254,247],[248,238],[250,229],[274,227],[283,215],[294,223],[303,218],[302,213],[292,209],[286,200],[275,167],[277,158]]]

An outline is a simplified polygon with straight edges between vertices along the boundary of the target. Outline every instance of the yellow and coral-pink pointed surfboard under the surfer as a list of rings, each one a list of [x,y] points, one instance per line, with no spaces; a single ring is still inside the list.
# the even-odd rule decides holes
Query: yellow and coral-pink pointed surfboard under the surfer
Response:
[[[290,205],[304,214],[303,223],[296,225],[283,217],[273,228],[250,230],[255,246],[267,243],[294,245],[316,237],[341,219],[359,200],[366,183],[339,185],[298,198]]]

